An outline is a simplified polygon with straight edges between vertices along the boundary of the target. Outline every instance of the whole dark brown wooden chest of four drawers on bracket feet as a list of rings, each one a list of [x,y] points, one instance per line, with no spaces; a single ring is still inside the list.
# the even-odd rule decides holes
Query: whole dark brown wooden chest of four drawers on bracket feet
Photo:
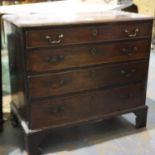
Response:
[[[44,133],[57,127],[129,112],[137,128],[145,127],[152,18],[116,11],[66,22],[4,20],[11,30],[12,115],[22,122],[29,154],[39,154]]]

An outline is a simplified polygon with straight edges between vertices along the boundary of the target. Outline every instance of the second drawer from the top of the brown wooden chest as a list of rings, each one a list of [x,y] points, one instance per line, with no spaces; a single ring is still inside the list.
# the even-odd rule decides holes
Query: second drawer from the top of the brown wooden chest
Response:
[[[46,72],[148,58],[150,41],[133,40],[114,43],[37,49],[26,52],[28,72]]]

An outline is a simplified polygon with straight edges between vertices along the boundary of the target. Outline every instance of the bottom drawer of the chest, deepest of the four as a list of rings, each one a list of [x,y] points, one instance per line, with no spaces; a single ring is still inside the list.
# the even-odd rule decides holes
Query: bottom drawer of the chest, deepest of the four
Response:
[[[30,128],[64,126],[102,118],[145,104],[145,85],[102,89],[84,94],[33,102]]]

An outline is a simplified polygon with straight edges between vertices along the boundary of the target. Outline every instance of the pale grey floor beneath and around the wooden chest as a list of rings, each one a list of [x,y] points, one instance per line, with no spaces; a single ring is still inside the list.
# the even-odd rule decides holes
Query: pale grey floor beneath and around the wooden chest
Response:
[[[8,102],[5,96],[4,102]],[[133,114],[53,132],[40,149],[46,155],[154,155],[155,154],[155,51],[151,52],[146,104],[147,128],[135,129]],[[47,145],[48,142],[48,145]],[[23,133],[9,119],[0,132],[0,155],[27,155]]]

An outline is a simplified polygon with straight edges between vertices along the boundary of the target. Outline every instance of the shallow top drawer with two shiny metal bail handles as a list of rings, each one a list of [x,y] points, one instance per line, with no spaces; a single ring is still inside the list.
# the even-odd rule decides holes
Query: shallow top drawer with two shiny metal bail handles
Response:
[[[25,32],[26,48],[72,45],[151,36],[151,23],[124,22],[90,26],[45,27]]]

